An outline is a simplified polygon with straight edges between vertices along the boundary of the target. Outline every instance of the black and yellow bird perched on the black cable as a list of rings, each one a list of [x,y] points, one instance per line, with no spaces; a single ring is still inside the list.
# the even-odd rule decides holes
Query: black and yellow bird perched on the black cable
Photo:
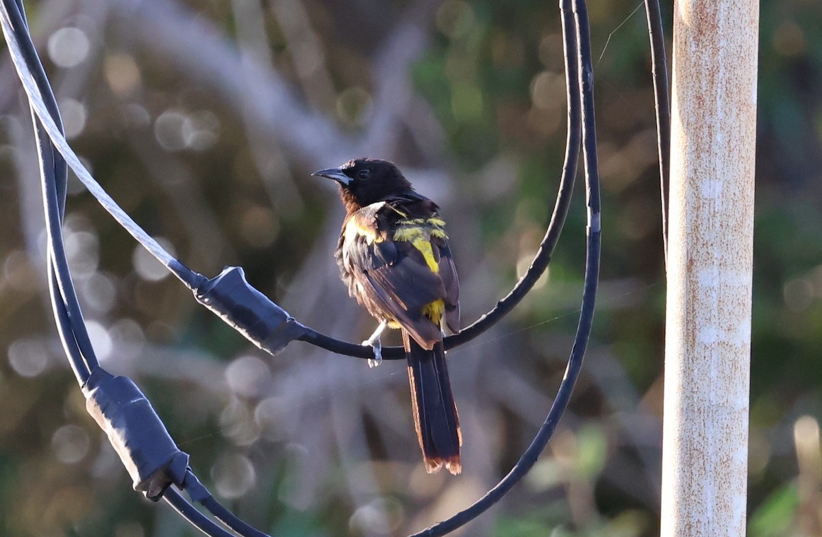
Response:
[[[385,160],[315,172],[339,183],[345,220],[335,252],[349,294],[380,326],[363,345],[381,360],[380,334],[402,330],[414,425],[428,473],[459,474],[462,435],[451,395],[443,325],[459,331],[459,281],[439,207]]]

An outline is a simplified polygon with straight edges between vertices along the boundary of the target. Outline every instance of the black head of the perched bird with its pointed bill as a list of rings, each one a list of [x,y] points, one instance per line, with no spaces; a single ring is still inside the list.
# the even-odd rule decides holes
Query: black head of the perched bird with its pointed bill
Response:
[[[339,168],[321,169],[312,175],[334,179],[339,183],[339,197],[349,212],[412,190],[408,179],[393,162],[387,160],[353,159]]]

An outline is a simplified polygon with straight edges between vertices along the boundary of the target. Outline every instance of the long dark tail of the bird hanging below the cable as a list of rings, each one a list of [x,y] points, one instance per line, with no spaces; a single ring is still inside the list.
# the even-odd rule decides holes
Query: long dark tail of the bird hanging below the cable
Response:
[[[451,474],[457,475],[462,470],[459,462],[462,433],[442,341],[432,350],[425,350],[403,331],[403,345],[409,363],[413,421],[425,469],[432,474],[445,465]]]

